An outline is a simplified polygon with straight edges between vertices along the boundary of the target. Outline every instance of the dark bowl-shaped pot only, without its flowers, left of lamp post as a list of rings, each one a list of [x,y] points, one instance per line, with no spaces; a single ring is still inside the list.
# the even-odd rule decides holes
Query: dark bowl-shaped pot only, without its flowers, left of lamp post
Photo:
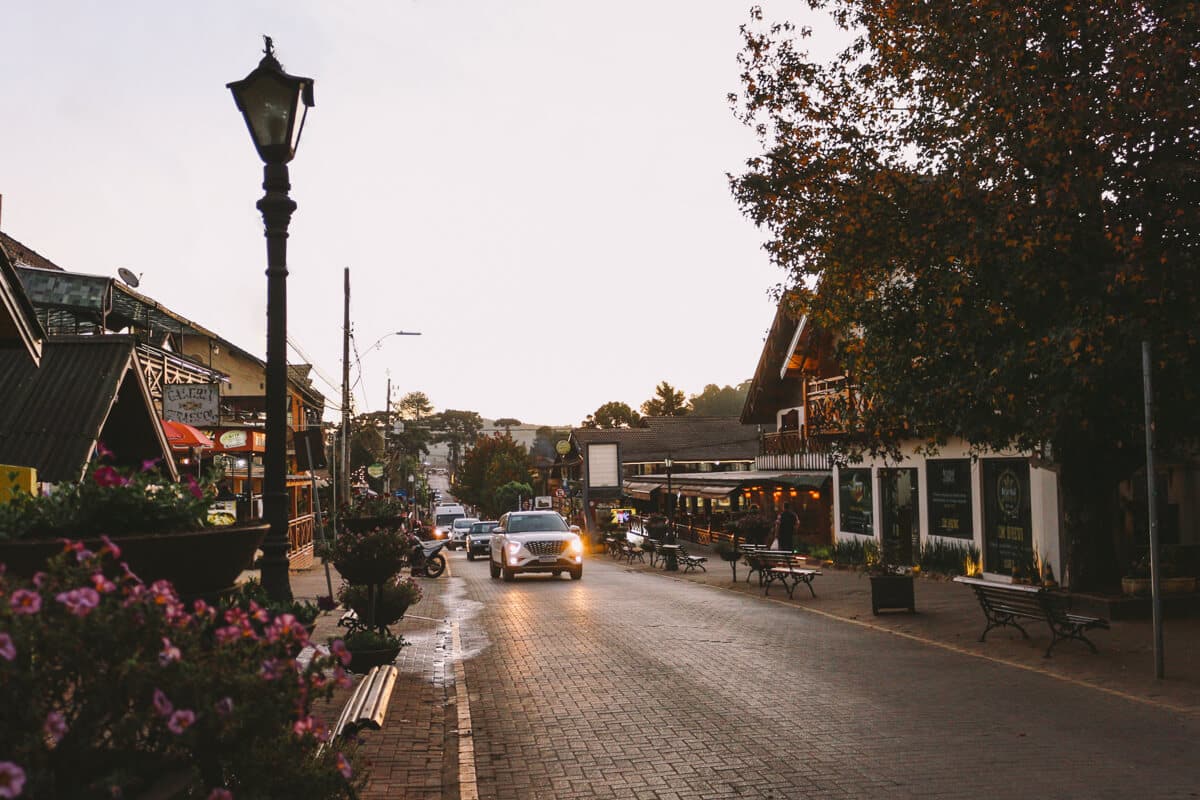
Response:
[[[109,539],[121,548],[121,560],[145,583],[170,581],[180,595],[199,597],[232,588],[242,570],[252,566],[269,528],[264,523]],[[103,546],[100,539],[88,536],[83,542],[91,549]],[[47,560],[61,552],[59,540],[0,542],[0,561],[7,564],[8,572],[26,578],[44,570]]]

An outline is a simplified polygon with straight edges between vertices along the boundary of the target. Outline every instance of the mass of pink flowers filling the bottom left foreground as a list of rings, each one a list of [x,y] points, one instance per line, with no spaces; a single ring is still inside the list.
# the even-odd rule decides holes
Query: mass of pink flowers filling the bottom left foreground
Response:
[[[106,540],[67,542],[31,582],[0,565],[0,796],[354,796],[312,704],[348,685],[290,615],[185,606]]]

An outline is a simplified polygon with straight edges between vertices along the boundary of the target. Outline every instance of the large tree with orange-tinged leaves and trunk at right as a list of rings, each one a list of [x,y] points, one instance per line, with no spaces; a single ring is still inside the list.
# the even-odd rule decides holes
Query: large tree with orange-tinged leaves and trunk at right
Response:
[[[851,450],[1052,453],[1080,588],[1114,577],[1116,486],[1196,440],[1200,6],[810,0],[848,44],[743,28],[731,178],[800,311],[871,402]]]

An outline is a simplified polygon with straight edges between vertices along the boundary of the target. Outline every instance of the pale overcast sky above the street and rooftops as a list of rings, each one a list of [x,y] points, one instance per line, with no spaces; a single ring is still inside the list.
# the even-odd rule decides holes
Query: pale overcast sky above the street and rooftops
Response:
[[[0,228],[67,270],[130,269],[263,355],[262,163],[224,85],[269,34],[316,80],[289,336],[340,381],[349,267],[359,410],[389,377],[396,398],[562,426],[660,380],[737,384],[784,278],[726,181],[755,152],[726,101],[749,7],[0,0]],[[395,330],[422,336],[366,350]]]

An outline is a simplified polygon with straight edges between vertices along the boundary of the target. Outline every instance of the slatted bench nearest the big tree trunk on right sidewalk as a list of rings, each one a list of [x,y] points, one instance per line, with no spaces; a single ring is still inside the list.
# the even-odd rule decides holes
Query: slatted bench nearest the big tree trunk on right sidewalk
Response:
[[[1013,583],[998,583],[996,581],[983,581],[982,578],[954,578],[955,583],[971,587],[983,608],[983,615],[988,620],[988,626],[979,634],[979,640],[988,638],[988,631],[994,627],[1012,625],[1021,632],[1026,639],[1030,634],[1025,632],[1019,619],[1044,621],[1050,626],[1050,646],[1043,657],[1049,658],[1058,642],[1075,639],[1082,642],[1092,652],[1096,645],[1092,644],[1085,633],[1092,628],[1109,630],[1109,621],[1098,616],[1084,616],[1073,614],[1067,607],[1067,599],[1057,593],[1042,587],[1026,587]]]

